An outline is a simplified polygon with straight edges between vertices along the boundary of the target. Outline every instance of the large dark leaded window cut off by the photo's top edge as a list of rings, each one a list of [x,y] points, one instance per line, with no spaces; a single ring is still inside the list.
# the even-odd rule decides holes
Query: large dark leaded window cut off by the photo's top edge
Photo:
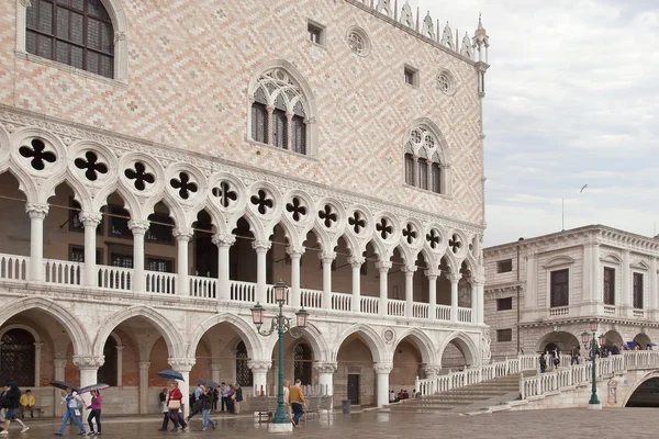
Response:
[[[114,30],[101,0],[38,0],[27,8],[25,50],[107,78]]]

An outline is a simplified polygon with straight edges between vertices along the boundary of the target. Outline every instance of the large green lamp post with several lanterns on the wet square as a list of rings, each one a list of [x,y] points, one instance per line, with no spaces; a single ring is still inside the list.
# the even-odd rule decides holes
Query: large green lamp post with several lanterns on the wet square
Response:
[[[283,315],[283,303],[286,302],[288,291],[289,288],[282,281],[277,282],[275,285],[275,301],[279,305],[279,313],[275,316],[275,318],[271,319],[269,329],[261,329],[261,326],[264,325],[264,307],[257,302],[256,305],[250,309],[252,320],[254,322],[254,325],[256,325],[256,330],[259,335],[268,337],[275,333],[275,330],[277,330],[277,335],[279,337],[277,410],[272,417],[272,423],[268,427],[268,429],[272,432],[293,430],[293,426],[283,406],[283,335],[288,331],[291,337],[300,338],[302,337],[302,329],[304,329],[309,323],[309,313],[304,309],[304,307],[300,308],[300,311],[295,313],[297,326],[291,326],[291,319]],[[300,330],[297,331],[294,330],[295,328],[300,328]]]

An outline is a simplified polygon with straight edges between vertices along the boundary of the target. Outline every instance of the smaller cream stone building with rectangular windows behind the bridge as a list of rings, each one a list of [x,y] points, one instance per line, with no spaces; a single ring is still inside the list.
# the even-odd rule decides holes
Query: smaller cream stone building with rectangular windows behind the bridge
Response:
[[[659,240],[591,225],[489,247],[485,323],[492,356],[581,345],[597,320],[606,344],[659,339]]]

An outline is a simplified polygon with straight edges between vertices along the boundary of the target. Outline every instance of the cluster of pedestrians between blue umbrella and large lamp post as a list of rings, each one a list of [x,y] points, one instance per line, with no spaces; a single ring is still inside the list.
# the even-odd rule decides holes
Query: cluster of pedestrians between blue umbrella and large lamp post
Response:
[[[190,419],[201,413],[201,430],[205,431],[209,424],[213,429],[217,423],[211,419],[211,413],[217,410],[230,414],[241,413],[241,402],[243,402],[243,389],[238,384],[222,383],[219,387],[206,387],[199,384],[194,392],[189,396],[190,413],[183,418],[183,394],[179,389],[178,381],[170,380],[167,387],[159,394],[159,403],[163,408],[161,431],[167,431],[168,424],[171,420],[174,429],[171,431],[185,431],[188,428]]]

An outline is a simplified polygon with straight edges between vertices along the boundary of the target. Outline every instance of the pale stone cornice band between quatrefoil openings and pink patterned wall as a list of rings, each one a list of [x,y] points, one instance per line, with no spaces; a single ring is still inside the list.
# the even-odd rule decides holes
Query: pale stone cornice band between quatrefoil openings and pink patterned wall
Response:
[[[59,136],[65,145],[70,145],[78,139],[89,139],[107,145],[114,150],[123,150],[126,153],[139,151],[157,159],[165,168],[174,162],[183,162],[198,168],[206,177],[214,172],[227,172],[236,175],[246,182],[265,181],[284,190],[304,190],[319,199],[334,198],[346,205],[361,204],[372,212],[388,211],[399,217],[413,217],[426,223],[437,223],[446,229],[455,228],[473,235],[481,235],[484,232],[484,225],[442,215],[431,215],[422,210],[395,203],[386,203],[375,196],[365,194],[357,195],[346,190],[313,183],[297,177],[287,176],[286,178],[282,178],[277,172],[250,167],[242,162],[235,162],[223,155],[219,157],[204,156],[171,145],[159,145],[92,126],[67,122],[53,116],[35,114],[5,104],[0,104],[0,123],[2,123],[9,133],[23,126],[36,126],[47,130]]]

